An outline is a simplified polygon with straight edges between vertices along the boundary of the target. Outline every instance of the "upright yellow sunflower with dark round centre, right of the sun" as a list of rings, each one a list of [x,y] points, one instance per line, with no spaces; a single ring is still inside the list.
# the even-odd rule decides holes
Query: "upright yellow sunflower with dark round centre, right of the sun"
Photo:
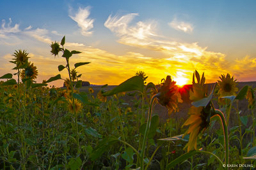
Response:
[[[234,80],[233,76],[231,78],[230,74],[227,74],[227,76],[223,74],[221,75],[220,80],[218,80],[219,99],[220,97],[224,96],[236,96],[238,88],[236,87],[237,83],[236,80]]]

